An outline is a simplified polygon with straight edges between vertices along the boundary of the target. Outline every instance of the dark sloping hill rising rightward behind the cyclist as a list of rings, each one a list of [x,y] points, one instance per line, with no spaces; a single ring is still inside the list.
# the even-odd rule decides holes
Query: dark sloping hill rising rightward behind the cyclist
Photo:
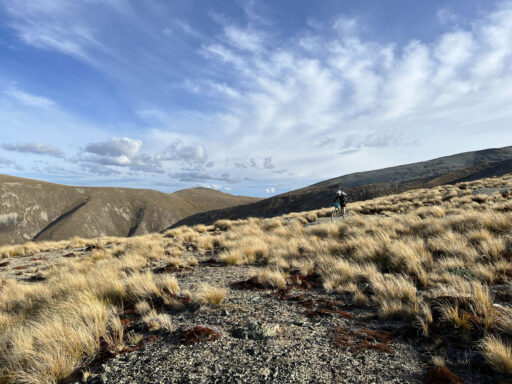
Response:
[[[322,181],[258,202],[202,212],[173,225],[211,224],[218,219],[272,217],[330,206],[338,188],[349,201],[367,200],[408,189],[433,187],[512,172],[512,147],[486,149],[419,163],[357,172]]]

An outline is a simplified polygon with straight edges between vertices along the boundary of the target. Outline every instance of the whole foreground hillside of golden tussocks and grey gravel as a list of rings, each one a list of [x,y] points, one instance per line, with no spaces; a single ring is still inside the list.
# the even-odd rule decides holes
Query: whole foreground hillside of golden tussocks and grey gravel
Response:
[[[512,175],[0,247],[5,383],[512,382]]]

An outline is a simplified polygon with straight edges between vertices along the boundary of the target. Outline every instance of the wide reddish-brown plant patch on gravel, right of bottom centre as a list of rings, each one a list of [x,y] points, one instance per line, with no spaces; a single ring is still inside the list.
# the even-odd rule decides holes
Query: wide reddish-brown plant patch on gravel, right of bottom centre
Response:
[[[376,331],[370,328],[360,328],[351,331],[343,327],[336,327],[332,332],[334,346],[357,354],[366,350],[391,352],[391,342],[388,332]]]

